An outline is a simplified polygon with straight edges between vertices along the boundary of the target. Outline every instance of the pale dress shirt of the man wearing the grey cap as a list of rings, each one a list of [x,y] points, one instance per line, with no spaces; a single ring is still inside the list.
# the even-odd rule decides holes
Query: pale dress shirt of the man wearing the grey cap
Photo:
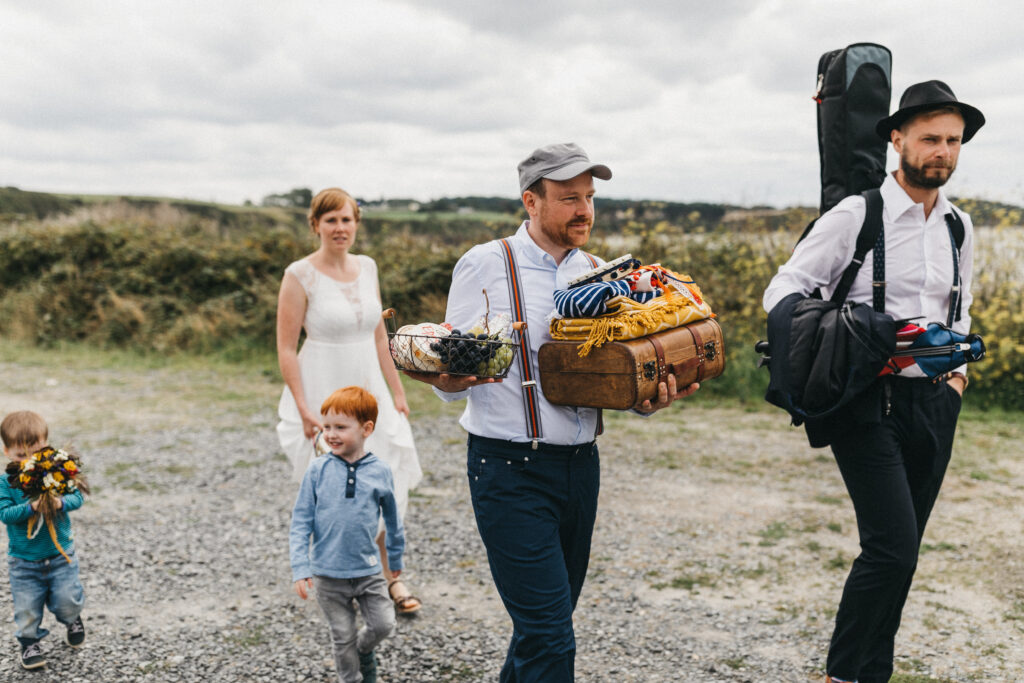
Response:
[[[568,281],[590,270],[590,260],[579,249],[573,249],[556,264],[550,254],[537,246],[526,227],[519,226],[510,238],[519,278],[522,281],[526,308],[526,326],[532,349],[530,362],[537,373],[537,352],[541,344],[551,341],[548,315],[554,309],[553,293],[565,289]],[[603,263],[601,259],[597,259]],[[477,245],[466,252],[456,263],[449,292],[445,322],[466,332],[484,314],[486,304],[482,290],[487,291],[492,314],[511,314],[505,259],[497,243]],[[434,389],[446,401],[466,398],[466,410],[459,423],[471,434],[500,438],[508,441],[529,441],[526,416],[523,412],[522,385],[519,373],[519,354],[512,362],[508,376],[501,383],[481,384],[466,391],[447,393]],[[544,398],[541,386],[540,440],[557,445],[573,445],[594,440],[597,431],[598,411],[590,408],[553,405]]]

